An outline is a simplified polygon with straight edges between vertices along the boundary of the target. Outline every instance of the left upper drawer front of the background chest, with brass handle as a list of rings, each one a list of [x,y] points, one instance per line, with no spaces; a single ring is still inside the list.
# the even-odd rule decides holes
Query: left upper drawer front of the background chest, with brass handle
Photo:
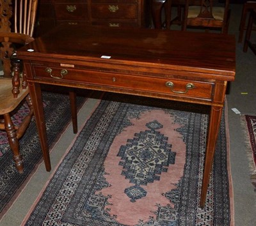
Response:
[[[82,3],[56,3],[56,20],[88,20],[88,6]]]

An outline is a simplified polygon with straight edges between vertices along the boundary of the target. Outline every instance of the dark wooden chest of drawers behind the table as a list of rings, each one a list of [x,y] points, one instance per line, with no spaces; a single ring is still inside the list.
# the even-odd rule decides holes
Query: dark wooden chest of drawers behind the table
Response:
[[[40,0],[36,36],[56,24],[148,27],[149,10],[145,0]]]

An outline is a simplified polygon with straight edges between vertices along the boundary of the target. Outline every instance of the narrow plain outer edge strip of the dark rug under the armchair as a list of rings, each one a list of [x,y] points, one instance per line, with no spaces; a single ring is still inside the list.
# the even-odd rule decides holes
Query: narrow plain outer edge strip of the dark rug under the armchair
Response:
[[[81,106],[79,106],[79,109],[77,109],[77,114],[79,114],[80,110],[88,102],[89,98],[90,97],[87,97],[86,100],[84,101],[84,103]],[[72,124],[72,118],[70,118],[70,120],[65,125],[63,130],[61,130],[61,132],[57,135],[57,137],[54,140],[54,142],[52,142],[51,146],[49,147],[49,153],[51,153],[52,149],[54,149],[56,144],[58,144],[59,140],[61,139],[62,135],[67,131],[67,129],[70,126],[70,124]],[[40,158],[40,160],[36,163],[35,167],[33,168],[33,170],[31,170],[31,172],[29,173],[28,177],[24,180],[22,185],[20,185],[20,187],[17,189],[17,191],[15,192],[13,197],[10,199],[8,204],[6,204],[6,206],[4,207],[3,211],[1,212],[0,221],[1,221],[1,219],[4,218],[6,213],[8,213],[9,209],[12,208],[12,206],[15,204],[16,200],[19,199],[20,194],[26,189],[26,187],[28,186],[28,183],[31,181],[32,177],[36,174],[36,172],[38,171],[38,169],[39,169],[40,165],[42,165],[42,163],[44,163],[44,158],[43,157]]]

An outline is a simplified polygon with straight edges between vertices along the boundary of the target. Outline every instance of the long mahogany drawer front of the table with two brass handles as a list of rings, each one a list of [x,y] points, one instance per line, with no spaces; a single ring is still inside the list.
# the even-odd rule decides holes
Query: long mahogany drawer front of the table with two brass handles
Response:
[[[136,91],[149,91],[152,93],[170,94],[171,96],[183,96],[184,98],[198,98],[211,100],[214,83],[190,81],[181,79],[163,79],[157,77],[142,77],[134,75],[122,75],[119,73],[93,72],[77,70],[74,68],[47,68],[46,66],[34,66],[35,79],[49,79],[56,82],[72,82],[75,84],[87,84],[94,86],[115,87]]]

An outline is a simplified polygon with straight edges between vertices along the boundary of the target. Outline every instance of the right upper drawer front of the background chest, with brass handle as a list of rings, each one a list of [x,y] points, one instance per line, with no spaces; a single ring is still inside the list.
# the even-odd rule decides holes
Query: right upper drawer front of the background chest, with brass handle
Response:
[[[137,4],[109,3],[92,4],[92,18],[137,19]]]

